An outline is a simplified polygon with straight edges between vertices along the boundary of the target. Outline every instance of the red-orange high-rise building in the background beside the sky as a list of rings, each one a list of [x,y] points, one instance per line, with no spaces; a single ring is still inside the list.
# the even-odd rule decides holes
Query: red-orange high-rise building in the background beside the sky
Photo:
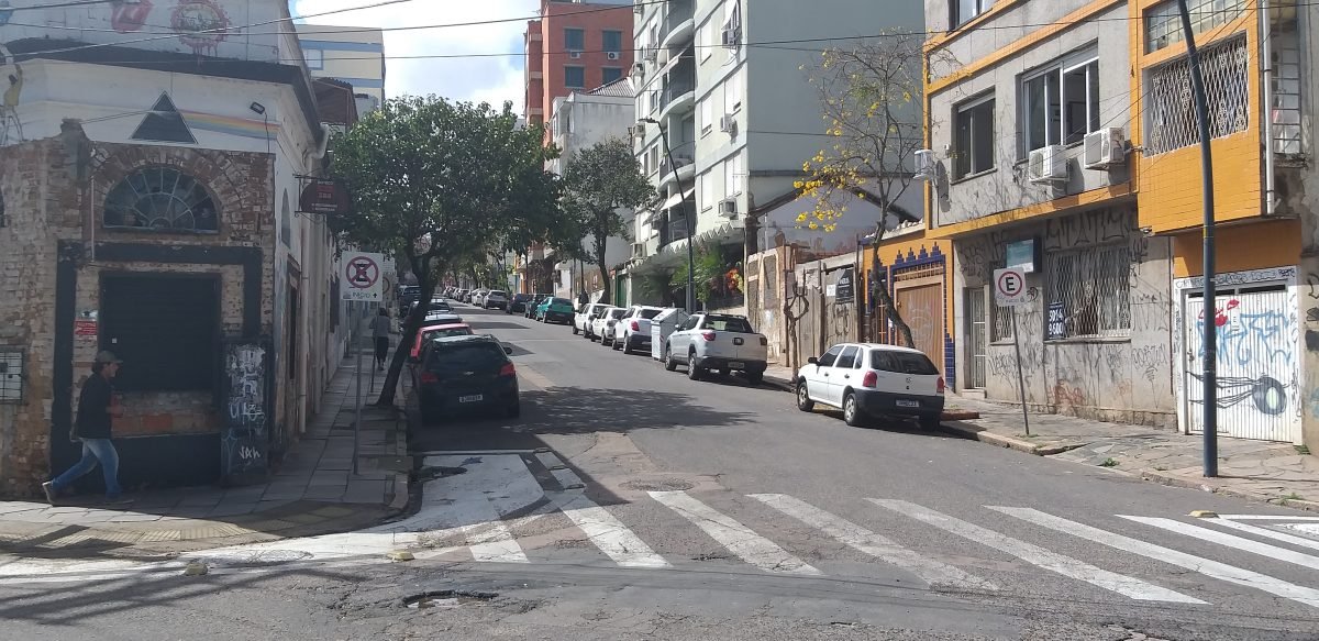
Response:
[[[542,124],[554,99],[617,80],[632,69],[629,0],[541,0],[541,18],[526,22],[524,117]]]

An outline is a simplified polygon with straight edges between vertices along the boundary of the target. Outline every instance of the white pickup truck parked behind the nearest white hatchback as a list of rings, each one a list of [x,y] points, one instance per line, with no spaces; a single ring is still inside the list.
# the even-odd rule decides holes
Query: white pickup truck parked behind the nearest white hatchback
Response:
[[[747,381],[760,385],[765,379],[769,340],[752,330],[747,317],[695,314],[669,335],[663,347],[663,368],[673,372],[687,365],[687,377],[700,380],[711,371],[744,372]]]

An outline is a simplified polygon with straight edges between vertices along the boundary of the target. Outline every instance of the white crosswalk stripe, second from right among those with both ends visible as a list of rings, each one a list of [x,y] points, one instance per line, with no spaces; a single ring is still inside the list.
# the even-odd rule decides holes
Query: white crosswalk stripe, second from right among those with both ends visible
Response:
[[[998,590],[998,586],[993,582],[972,576],[947,563],[922,557],[880,534],[867,530],[843,517],[824,512],[801,499],[787,495],[749,496],[806,525],[819,529],[855,550],[901,567],[931,586],[946,586],[959,590]]]

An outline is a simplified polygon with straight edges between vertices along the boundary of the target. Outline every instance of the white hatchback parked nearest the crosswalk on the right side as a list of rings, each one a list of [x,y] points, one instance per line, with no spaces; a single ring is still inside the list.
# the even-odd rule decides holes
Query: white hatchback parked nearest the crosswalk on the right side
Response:
[[[874,343],[840,343],[806,359],[797,373],[797,408],[840,408],[847,425],[871,417],[917,417],[934,429],[943,414],[943,377],[917,350]]]

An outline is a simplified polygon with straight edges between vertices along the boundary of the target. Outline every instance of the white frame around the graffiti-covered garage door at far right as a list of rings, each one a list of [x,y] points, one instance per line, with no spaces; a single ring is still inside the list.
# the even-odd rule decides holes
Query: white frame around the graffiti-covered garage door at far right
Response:
[[[1286,286],[1287,294],[1287,313],[1293,315],[1297,320],[1297,336],[1295,336],[1295,353],[1297,353],[1297,371],[1295,380],[1302,380],[1301,368],[1303,368],[1303,355],[1304,355],[1304,338],[1303,332],[1299,331],[1299,305],[1297,301],[1297,266],[1281,266],[1281,268],[1266,268],[1266,269],[1248,269],[1242,272],[1227,272],[1220,273],[1215,277],[1215,286],[1220,289],[1236,289],[1241,286],[1262,286],[1262,285],[1283,285]],[[1173,385],[1173,392],[1177,396],[1177,430],[1182,434],[1191,434],[1191,422],[1187,398],[1187,375],[1186,375],[1186,360],[1190,353],[1190,346],[1186,344],[1187,334],[1187,302],[1191,299],[1190,294],[1200,290],[1204,286],[1203,276],[1192,276],[1188,278],[1174,278],[1173,280],[1173,353],[1177,357],[1173,359],[1173,376],[1177,384]],[[1294,404],[1295,412],[1298,414],[1297,427],[1291,433],[1291,442],[1301,444],[1303,442],[1299,414],[1302,412],[1301,404]]]

